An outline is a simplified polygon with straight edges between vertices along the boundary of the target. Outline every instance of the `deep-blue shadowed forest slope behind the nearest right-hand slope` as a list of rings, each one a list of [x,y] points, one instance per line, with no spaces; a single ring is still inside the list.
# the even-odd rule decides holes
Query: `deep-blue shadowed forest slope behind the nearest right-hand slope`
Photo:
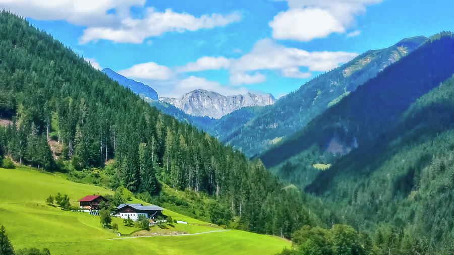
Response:
[[[332,164],[336,155],[381,141],[382,132],[400,120],[414,101],[454,74],[452,44],[449,36],[425,43],[327,109],[305,129],[262,153],[260,159],[295,184],[311,183],[316,171],[313,163]],[[374,154],[374,148],[368,150]]]

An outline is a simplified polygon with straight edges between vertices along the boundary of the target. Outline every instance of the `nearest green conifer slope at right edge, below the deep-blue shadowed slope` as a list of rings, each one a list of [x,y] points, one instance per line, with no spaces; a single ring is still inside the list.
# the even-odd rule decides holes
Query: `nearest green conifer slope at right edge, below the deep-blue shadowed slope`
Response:
[[[339,221],[387,223],[434,247],[454,237],[454,78],[402,114],[402,120],[321,173],[307,190],[329,202]],[[447,253],[446,253],[447,254]]]

